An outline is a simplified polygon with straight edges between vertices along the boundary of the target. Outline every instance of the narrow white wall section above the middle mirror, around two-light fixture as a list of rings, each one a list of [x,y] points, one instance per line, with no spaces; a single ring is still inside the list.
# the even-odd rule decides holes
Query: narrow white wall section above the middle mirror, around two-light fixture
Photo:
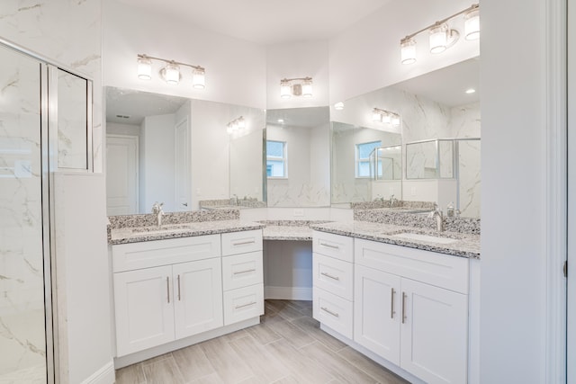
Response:
[[[329,104],[328,41],[302,41],[266,48],[266,107],[321,107]],[[312,97],[280,97],[283,78],[312,77]]]

